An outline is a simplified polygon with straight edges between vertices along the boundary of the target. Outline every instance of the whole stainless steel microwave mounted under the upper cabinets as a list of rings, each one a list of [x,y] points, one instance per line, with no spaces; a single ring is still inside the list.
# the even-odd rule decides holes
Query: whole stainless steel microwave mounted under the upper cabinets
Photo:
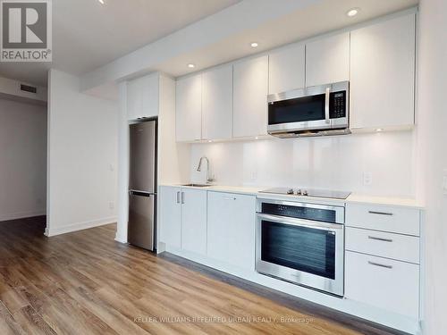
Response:
[[[272,94],[267,131],[278,138],[350,133],[350,82]]]

